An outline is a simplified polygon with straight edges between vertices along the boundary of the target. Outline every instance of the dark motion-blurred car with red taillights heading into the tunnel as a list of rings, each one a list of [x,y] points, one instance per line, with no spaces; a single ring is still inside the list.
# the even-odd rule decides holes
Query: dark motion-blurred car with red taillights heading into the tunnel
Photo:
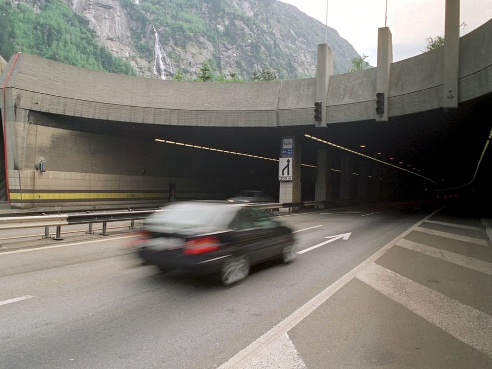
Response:
[[[295,259],[292,230],[267,211],[228,201],[168,204],[144,220],[140,258],[162,271],[214,273],[224,285],[248,276],[250,265]]]

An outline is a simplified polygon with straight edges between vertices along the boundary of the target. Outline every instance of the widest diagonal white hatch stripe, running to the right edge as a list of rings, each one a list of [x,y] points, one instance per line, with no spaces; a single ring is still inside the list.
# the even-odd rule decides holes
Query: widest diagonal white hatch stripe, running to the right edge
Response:
[[[372,263],[357,279],[438,326],[444,332],[492,356],[492,316]]]

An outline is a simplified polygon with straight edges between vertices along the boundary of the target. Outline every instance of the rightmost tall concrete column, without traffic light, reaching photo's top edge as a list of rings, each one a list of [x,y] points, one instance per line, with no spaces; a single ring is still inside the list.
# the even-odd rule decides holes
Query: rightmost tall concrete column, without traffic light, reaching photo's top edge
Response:
[[[458,108],[460,0],[446,0],[444,22],[443,107]]]

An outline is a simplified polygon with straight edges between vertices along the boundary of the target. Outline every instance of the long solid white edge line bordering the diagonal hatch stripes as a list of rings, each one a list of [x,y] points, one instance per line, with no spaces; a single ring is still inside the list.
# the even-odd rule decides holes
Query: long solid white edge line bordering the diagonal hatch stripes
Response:
[[[338,280],[336,280],[333,284],[325,288],[311,300],[302,305],[299,309],[297,309],[294,313],[286,317],[280,323],[274,325],[272,329],[268,332],[264,333],[261,337],[250,343],[247,347],[243,348],[236,355],[231,357],[228,361],[219,366],[218,369],[244,369],[244,365],[242,364],[245,360],[252,360],[253,358],[264,357],[263,347],[265,344],[270,342],[277,341],[280,339],[280,336],[289,332],[294,326],[296,326],[302,319],[315,311],[319,305],[329,299],[333,294],[335,294],[338,290],[340,290],[345,284],[347,284],[352,278],[354,278],[357,273],[367,267],[367,265],[371,265],[375,260],[377,260],[381,255],[383,255],[386,251],[388,251],[396,242],[405,237],[407,234],[412,232],[416,227],[418,227],[425,219],[432,217],[438,211],[436,210],[434,213],[425,217],[421,221],[414,224],[413,227],[409,228],[401,235],[396,237],[391,242],[384,245],[381,249],[379,249],[376,253],[370,256],[368,259],[361,262],[357,267],[352,269],[350,272],[346,273]]]

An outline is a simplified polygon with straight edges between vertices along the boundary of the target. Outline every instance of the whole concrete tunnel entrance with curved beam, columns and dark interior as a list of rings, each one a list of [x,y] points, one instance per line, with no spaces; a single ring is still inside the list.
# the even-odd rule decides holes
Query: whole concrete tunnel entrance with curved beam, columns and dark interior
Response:
[[[459,14],[459,1],[446,7]],[[269,83],[162,81],[14,55],[0,76],[5,197],[30,208],[158,203],[171,188],[224,198],[262,186],[296,201],[466,185],[490,139],[480,116],[492,100],[492,20],[460,38],[459,15],[446,16],[445,38],[392,63],[381,28],[377,68],[333,75],[320,45],[316,78]],[[281,137],[295,138],[295,176],[279,184]]]

